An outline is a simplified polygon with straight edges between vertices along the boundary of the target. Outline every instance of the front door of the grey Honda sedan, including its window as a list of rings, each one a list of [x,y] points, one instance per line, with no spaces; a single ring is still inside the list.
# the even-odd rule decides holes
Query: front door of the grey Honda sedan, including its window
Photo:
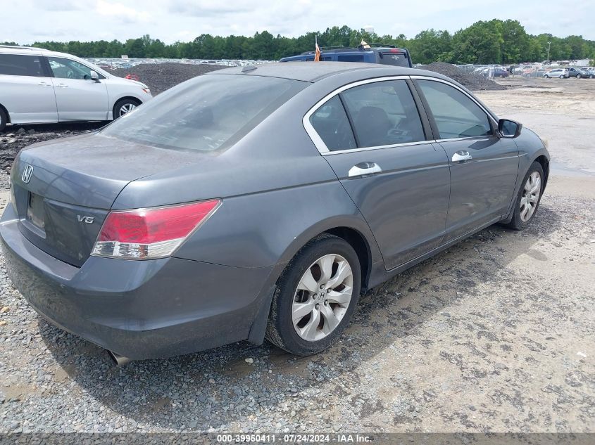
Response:
[[[494,120],[460,89],[436,80],[416,82],[449,160],[451,200],[445,238],[449,241],[508,212],[518,174],[518,148],[513,139],[499,137]]]

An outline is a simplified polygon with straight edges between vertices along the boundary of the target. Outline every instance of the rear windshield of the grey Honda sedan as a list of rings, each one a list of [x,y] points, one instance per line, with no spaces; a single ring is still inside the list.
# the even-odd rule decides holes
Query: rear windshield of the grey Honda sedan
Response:
[[[100,131],[161,148],[211,151],[239,141],[308,85],[254,75],[203,75],[165,91]]]

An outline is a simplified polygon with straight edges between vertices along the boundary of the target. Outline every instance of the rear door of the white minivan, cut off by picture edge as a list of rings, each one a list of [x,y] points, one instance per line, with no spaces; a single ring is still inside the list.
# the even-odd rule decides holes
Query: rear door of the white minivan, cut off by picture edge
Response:
[[[54,86],[41,56],[0,54],[0,104],[13,124],[58,122]]]

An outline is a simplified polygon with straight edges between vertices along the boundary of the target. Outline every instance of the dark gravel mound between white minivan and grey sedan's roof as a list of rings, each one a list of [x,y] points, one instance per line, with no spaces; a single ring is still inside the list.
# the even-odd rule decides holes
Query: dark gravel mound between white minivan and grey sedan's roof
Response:
[[[107,70],[118,77],[125,77],[132,74],[139,77],[139,81],[149,86],[151,93],[155,96],[163,93],[166,89],[180,84],[192,77],[202,75],[206,72],[227,68],[223,65],[191,65],[189,63],[142,63],[130,69],[118,68]]]

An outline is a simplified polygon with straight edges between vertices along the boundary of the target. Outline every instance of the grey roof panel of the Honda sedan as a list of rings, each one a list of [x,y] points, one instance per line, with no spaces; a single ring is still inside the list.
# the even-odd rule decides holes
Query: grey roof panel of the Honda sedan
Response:
[[[281,77],[284,79],[300,80],[302,82],[318,82],[333,75],[347,72],[361,72],[362,79],[380,76],[411,76],[424,75],[448,79],[436,72],[418,70],[416,68],[395,67],[376,63],[356,62],[283,62],[267,63],[263,65],[249,65],[246,67],[232,67],[225,70],[209,72],[207,75],[254,75],[263,77]]]

